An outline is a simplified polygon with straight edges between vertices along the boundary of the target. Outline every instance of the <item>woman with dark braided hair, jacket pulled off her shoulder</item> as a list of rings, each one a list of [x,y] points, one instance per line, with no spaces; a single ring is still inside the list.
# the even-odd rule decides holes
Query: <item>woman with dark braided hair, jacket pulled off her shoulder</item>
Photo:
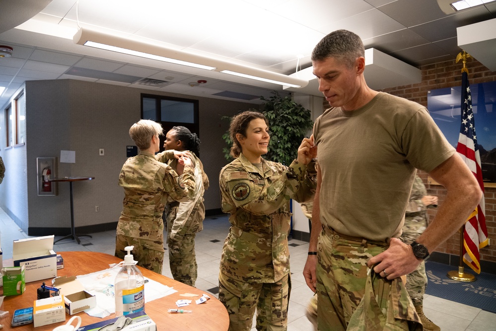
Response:
[[[159,161],[167,162],[173,169],[178,160],[174,152],[188,151],[195,169],[195,193],[193,199],[185,202],[170,201],[166,207],[167,246],[169,248],[169,266],[172,276],[181,283],[195,286],[198,265],[195,253],[196,234],[203,230],[205,205],[203,194],[209,188],[209,177],[198,158],[200,139],[196,133],[184,126],[174,126],[165,135],[164,148]],[[165,159],[165,160],[164,160]]]

